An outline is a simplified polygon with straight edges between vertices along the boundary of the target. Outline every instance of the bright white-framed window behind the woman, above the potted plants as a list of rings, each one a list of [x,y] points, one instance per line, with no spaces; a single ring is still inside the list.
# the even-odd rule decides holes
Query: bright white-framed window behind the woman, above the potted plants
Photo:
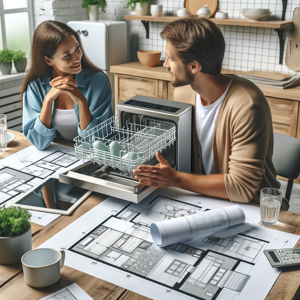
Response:
[[[34,32],[32,0],[0,0],[0,50],[23,50],[29,57]]]

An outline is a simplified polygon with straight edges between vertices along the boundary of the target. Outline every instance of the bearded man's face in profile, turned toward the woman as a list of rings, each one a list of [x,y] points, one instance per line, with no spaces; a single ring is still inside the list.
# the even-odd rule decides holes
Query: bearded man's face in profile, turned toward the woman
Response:
[[[192,84],[194,82],[193,74],[190,74],[187,66],[177,56],[174,47],[167,43],[165,49],[167,58],[164,62],[164,67],[168,68],[171,79],[171,84],[174,87]]]

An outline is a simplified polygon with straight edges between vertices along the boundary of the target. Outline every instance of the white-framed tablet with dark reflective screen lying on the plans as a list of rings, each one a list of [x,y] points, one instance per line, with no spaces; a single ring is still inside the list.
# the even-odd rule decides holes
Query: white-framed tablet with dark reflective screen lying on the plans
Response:
[[[58,178],[47,177],[10,205],[55,214],[70,214],[91,193],[91,190],[59,182]]]

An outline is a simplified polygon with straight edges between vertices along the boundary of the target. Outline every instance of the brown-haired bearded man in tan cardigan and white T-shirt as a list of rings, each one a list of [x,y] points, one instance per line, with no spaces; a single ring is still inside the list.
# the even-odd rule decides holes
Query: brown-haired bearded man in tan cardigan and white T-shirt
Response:
[[[173,170],[157,153],[160,166],[139,166],[135,178],[145,185],[259,203],[262,188],[280,188],[265,96],[249,80],[221,73],[225,41],[211,20],[189,16],[167,23],[161,38],[167,41],[164,67],[176,87],[174,100],[193,104],[194,174]],[[281,209],[288,207],[283,199]]]

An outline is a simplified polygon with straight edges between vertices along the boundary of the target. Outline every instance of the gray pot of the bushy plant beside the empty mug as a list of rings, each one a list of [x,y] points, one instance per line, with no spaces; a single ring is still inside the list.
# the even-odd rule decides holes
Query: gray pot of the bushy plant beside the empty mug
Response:
[[[0,236],[0,264],[21,262],[22,256],[30,250],[32,250],[31,225],[19,235]]]

